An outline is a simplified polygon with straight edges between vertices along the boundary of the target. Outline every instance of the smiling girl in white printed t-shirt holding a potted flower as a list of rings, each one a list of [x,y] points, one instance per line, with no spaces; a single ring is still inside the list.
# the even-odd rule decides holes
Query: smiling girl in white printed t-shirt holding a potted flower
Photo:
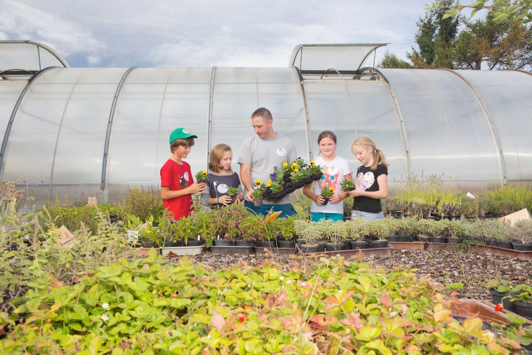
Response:
[[[312,221],[320,219],[332,219],[341,221],[344,217],[344,204],[342,200],[348,194],[340,188],[340,182],[344,179],[353,180],[349,162],[336,155],[336,135],[329,130],[323,131],[318,136],[318,146],[321,156],[314,159],[314,162],[321,167],[321,179],[312,181],[303,187],[303,194],[312,200],[310,214]],[[334,195],[329,202],[323,204],[325,199],[321,196],[324,188],[334,188]]]

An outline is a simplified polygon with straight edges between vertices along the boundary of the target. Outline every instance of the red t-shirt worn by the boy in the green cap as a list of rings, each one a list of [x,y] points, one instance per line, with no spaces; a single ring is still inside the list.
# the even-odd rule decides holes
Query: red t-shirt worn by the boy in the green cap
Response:
[[[186,161],[182,164],[168,159],[161,168],[161,187],[169,187],[171,191],[176,191],[193,184],[192,172]],[[192,195],[184,195],[170,200],[163,200],[165,210],[173,213],[175,220],[187,217],[194,210]]]

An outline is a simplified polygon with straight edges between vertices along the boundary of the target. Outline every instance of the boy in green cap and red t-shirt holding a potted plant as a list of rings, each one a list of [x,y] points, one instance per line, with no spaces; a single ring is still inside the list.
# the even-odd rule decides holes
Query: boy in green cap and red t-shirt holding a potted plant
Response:
[[[202,193],[206,184],[195,183],[187,158],[196,135],[185,128],[176,128],[170,134],[172,156],[161,168],[161,198],[167,215],[175,220],[187,217],[194,210],[192,194]]]

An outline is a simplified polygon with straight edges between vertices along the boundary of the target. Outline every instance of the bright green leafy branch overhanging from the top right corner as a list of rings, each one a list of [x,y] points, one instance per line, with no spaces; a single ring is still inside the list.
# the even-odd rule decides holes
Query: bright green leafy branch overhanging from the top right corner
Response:
[[[471,4],[461,4],[460,0],[449,2],[437,0],[427,9],[443,10],[444,19],[457,16],[464,9],[472,9],[469,19],[479,10],[488,10],[488,17],[497,23],[517,21],[521,24],[532,22],[532,2],[530,0],[479,0]]]

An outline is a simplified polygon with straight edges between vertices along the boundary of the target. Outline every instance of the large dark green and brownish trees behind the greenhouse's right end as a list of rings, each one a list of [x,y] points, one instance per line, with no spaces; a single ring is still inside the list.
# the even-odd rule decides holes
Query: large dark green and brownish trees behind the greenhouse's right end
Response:
[[[532,29],[519,21],[498,22],[493,15],[472,21],[447,16],[439,2],[418,21],[417,48],[408,53],[415,68],[532,69]]]

